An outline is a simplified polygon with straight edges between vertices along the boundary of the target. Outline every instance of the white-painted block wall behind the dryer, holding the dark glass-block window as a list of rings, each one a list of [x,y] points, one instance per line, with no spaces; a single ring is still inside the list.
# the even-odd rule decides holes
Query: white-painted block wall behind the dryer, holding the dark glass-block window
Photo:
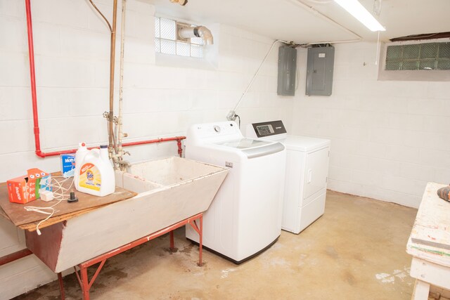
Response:
[[[331,190],[418,207],[428,181],[450,182],[450,83],[377,81],[375,56],[335,45],[332,96],[308,97],[299,50],[291,132],[330,138]]]

